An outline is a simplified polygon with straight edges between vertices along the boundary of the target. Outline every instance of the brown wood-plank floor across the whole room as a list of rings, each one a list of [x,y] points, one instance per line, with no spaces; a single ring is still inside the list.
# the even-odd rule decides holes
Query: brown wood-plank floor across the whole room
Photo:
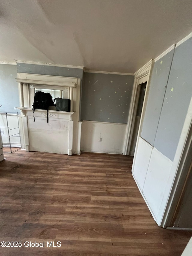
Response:
[[[22,150],[5,156],[0,240],[22,247],[0,247],[2,256],[180,256],[192,235],[156,225],[131,176],[132,157]]]

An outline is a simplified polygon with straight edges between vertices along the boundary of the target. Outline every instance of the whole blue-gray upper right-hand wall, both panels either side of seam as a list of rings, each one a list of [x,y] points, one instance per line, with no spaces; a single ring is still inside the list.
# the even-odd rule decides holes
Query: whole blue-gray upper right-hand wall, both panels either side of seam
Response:
[[[159,68],[163,70],[160,76]],[[141,132],[143,139],[172,161],[192,97],[191,78],[192,38],[155,63]]]

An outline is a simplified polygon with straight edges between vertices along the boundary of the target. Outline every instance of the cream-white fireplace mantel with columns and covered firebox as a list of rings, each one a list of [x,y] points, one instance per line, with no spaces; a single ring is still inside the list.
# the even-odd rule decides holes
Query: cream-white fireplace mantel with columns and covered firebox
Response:
[[[80,78],[18,73],[19,100],[22,117],[21,136],[26,151],[58,154],[80,153],[79,125]],[[35,88],[65,90],[71,101],[70,112],[36,109],[33,117]]]

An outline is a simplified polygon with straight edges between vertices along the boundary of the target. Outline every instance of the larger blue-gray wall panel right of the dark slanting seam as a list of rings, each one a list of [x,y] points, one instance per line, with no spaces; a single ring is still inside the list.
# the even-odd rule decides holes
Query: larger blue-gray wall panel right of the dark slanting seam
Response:
[[[192,96],[192,38],[175,49],[154,147],[173,161]]]

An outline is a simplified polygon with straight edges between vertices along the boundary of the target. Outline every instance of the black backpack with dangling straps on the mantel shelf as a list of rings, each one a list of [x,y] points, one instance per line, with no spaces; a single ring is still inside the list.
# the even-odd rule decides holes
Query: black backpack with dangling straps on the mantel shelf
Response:
[[[36,109],[46,109],[47,110],[47,122],[49,122],[48,108],[53,106],[53,99],[50,93],[45,92],[35,92],[34,102],[33,102],[33,113]],[[33,114],[34,116],[34,114]],[[35,116],[34,116],[35,122]]]

